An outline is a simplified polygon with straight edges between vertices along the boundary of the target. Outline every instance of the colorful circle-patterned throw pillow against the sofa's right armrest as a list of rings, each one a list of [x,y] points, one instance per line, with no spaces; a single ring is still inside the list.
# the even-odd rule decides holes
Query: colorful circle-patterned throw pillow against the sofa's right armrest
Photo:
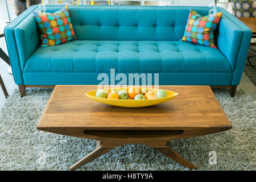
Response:
[[[201,16],[191,10],[185,27],[184,42],[193,42],[204,46],[214,47],[214,30],[216,30],[223,13]]]

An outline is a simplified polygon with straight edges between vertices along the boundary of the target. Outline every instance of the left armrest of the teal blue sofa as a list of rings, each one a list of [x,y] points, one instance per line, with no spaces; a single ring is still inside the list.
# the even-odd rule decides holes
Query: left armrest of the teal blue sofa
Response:
[[[38,6],[31,6],[5,27],[11,68],[18,85],[23,84],[22,71],[28,57],[40,44],[40,31],[31,14],[37,8]]]

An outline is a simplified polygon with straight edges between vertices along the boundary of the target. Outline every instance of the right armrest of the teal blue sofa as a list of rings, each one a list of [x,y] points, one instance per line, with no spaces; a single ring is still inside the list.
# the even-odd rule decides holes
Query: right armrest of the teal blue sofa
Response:
[[[228,11],[217,7],[223,13],[218,28],[218,49],[229,60],[233,69],[233,80],[231,85],[240,84],[243,67],[251,42],[251,29],[243,24]]]

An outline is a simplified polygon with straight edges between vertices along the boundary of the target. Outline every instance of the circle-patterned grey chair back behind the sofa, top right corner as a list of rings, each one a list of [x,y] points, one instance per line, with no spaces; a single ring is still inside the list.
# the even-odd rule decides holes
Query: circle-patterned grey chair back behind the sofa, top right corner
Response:
[[[237,17],[256,17],[255,0],[232,0],[232,12]]]

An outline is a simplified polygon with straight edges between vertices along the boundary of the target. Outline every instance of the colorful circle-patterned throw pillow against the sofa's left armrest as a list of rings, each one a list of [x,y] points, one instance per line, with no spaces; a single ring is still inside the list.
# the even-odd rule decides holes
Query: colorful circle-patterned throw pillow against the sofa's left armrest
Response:
[[[76,40],[68,12],[68,5],[55,13],[32,12],[42,32],[42,47]]]

